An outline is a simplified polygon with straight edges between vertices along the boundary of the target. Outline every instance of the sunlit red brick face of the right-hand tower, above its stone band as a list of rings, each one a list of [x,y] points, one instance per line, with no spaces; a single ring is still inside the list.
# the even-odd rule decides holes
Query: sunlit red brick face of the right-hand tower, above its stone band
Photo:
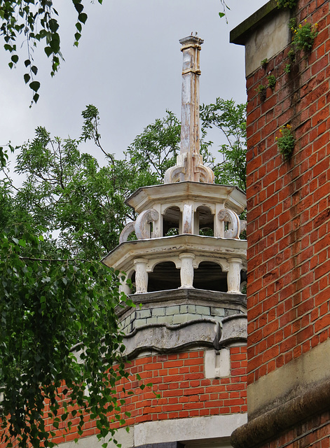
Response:
[[[285,73],[288,46],[247,78],[248,384],[329,338],[329,1],[297,11],[318,24],[310,54]],[[261,101],[269,72],[275,90]],[[296,145],[285,162],[275,137],[287,123]]]

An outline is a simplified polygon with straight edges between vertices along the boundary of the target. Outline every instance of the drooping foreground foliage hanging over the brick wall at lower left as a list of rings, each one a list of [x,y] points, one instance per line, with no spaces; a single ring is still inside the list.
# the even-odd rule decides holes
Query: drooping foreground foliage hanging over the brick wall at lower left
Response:
[[[118,413],[113,389],[127,375],[116,275],[98,262],[49,259],[42,233],[22,226],[0,238],[1,442],[52,447],[60,422],[69,430],[79,416],[82,432],[83,414],[97,419],[100,437],[114,433],[107,414]]]

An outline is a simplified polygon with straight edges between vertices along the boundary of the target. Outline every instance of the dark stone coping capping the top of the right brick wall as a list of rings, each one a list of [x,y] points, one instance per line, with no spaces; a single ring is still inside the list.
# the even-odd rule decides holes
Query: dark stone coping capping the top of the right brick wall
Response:
[[[276,0],[268,1],[266,5],[261,6],[259,10],[231,30],[229,41],[237,45],[245,45],[247,38],[251,36],[252,32],[278,10]]]

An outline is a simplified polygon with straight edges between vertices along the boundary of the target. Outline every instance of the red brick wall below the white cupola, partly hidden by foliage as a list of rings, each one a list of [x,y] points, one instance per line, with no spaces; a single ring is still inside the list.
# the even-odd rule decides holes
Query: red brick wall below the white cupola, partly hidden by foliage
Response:
[[[126,403],[123,412],[130,412],[126,425],[178,419],[195,416],[210,416],[247,412],[246,405],[246,347],[231,348],[231,377],[205,379],[205,351],[190,351],[171,355],[146,356],[133,360],[127,368],[132,374],[130,379],[122,381],[117,390],[125,387]],[[141,381],[137,381],[139,374]],[[141,384],[152,383],[142,391]],[[127,393],[132,391],[132,395]],[[159,394],[157,398],[155,394]],[[122,394],[119,395],[122,398]],[[55,442],[74,440],[79,419],[72,420],[72,428],[64,433],[65,423],[56,430]],[[118,426],[118,425],[117,425]],[[51,421],[47,421],[47,430]],[[52,428],[54,430],[54,428]],[[98,433],[96,421],[85,423],[82,437]]]

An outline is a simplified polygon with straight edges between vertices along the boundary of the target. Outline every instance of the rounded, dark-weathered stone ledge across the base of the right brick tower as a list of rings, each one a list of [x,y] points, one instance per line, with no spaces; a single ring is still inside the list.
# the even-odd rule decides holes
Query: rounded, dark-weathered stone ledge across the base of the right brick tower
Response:
[[[322,381],[296,398],[284,402],[236,429],[231,435],[234,448],[256,447],[297,423],[321,414],[330,407],[330,379]]]

